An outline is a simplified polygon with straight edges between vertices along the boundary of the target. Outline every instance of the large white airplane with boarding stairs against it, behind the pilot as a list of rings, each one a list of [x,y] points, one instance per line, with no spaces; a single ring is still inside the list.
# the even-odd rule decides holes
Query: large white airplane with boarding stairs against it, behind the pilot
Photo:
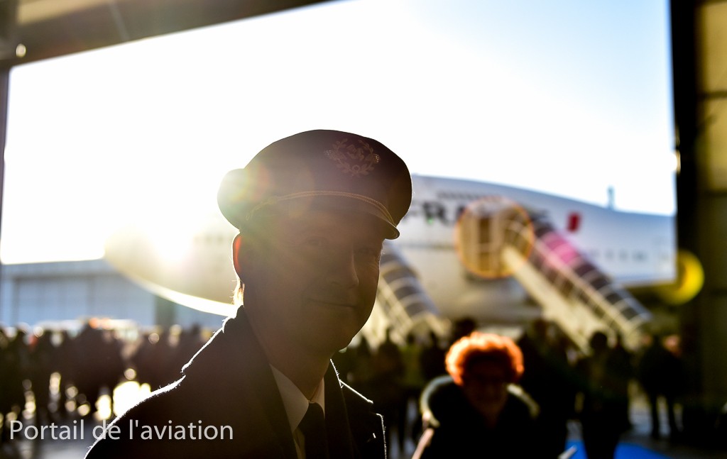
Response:
[[[500,327],[553,320],[582,349],[595,330],[640,344],[651,314],[627,288],[676,276],[673,216],[638,214],[501,184],[412,176],[413,198],[386,241],[377,304],[363,330],[444,336],[469,317]],[[234,315],[233,228],[217,211],[115,232],[105,259],[178,304]]]

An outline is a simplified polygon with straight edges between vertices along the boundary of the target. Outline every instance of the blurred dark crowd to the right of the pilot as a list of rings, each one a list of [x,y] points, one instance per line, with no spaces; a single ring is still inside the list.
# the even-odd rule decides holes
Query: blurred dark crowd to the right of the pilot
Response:
[[[476,335],[477,332],[474,333]],[[471,340],[472,336],[473,322],[462,320],[455,324],[451,337],[410,334],[399,344],[394,344],[387,334],[377,349],[371,349],[364,338],[356,346],[350,346],[334,356],[334,363],[342,378],[371,397],[379,413],[384,415],[387,440],[395,433],[395,442],[389,441],[387,444],[392,449],[398,448],[400,457],[406,451],[406,442],[419,444],[422,450],[419,457],[440,457],[433,451],[440,450],[442,442],[435,442],[435,447],[422,447],[422,434],[427,436],[426,441],[431,441],[433,432],[437,430],[433,425],[441,424],[441,416],[435,416],[436,410],[430,409],[431,397],[435,394],[436,400],[441,397],[442,391],[453,391],[452,381],[456,372],[467,373],[467,365],[462,360],[459,366],[448,364],[448,367],[446,362],[454,357],[446,355],[448,351],[451,354],[460,338],[469,337]],[[507,341],[503,336],[490,336],[491,339],[493,337]],[[527,407],[527,410],[521,409],[527,415],[521,416],[522,422],[518,421],[515,428],[521,438],[531,436],[532,441],[510,444],[510,452],[517,451],[518,447],[537,445],[537,452],[531,452],[534,454],[532,457],[557,458],[567,449],[568,426],[575,421],[574,425],[580,426],[588,458],[613,458],[619,438],[632,428],[630,399],[635,394],[634,389],[643,394],[651,407],[652,436],[659,438],[668,434],[670,439],[678,439],[680,423],[675,404],[686,389],[678,338],[648,335],[646,340],[642,349],[630,352],[623,346],[619,336],[609,337],[606,333],[597,332],[590,338],[590,350],[582,352],[559,333],[553,323],[534,321],[513,341],[514,347],[508,348],[515,349],[510,352],[519,357],[505,355],[507,362],[513,358],[518,360],[516,366],[521,367],[521,370],[508,373],[504,380],[502,375],[494,377],[497,381],[505,381],[499,387],[507,387],[510,405],[515,403],[513,400],[519,400],[523,407]],[[507,348],[503,344],[498,346]],[[485,354],[491,349],[481,352]],[[483,378],[487,386],[491,377]],[[446,389],[448,384],[449,389]],[[447,402],[439,403],[449,408],[445,410],[444,418],[459,418],[458,428],[454,431],[459,434],[467,432],[468,429],[462,428],[460,423],[471,426],[472,420],[478,419],[476,413],[470,412],[470,421],[467,422],[467,410],[461,409],[467,406],[465,397],[455,397],[459,405],[448,397],[444,398]],[[662,398],[666,401],[669,419],[667,431],[660,425],[657,411]],[[419,410],[411,410],[412,403]],[[437,402],[435,405],[438,405]],[[459,406],[459,409],[452,410],[453,406]],[[511,423],[512,419],[507,422]],[[480,428],[478,431],[483,430]],[[447,437],[444,434],[440,438],[442,436]],[[479,435],[470,439],[470,442],[459,439],[459,444],[471,446],[472,441],[480,442],[483,438],[505,439],[508,436],[502,432],[494,437]],[[488,447],[493,447],[493,444],[490,441]],[[450,457],[448,454],[452,452],[452,447],[450,445],[448,453],[441,457]]]

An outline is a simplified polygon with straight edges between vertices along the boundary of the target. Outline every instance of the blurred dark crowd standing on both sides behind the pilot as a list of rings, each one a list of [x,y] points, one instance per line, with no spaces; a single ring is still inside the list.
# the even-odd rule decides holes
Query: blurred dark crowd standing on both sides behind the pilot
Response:
[[[465,410],[469,404],[466,397],[457,395],[457,380],[453,380],[459,374],[462,382],[462,374],[467,374],[467,370],[473,373],[478,370],[471,370],[461,358],[458,366],[453,363],[447,366],[449,360],[456,359],[449,357],[448,360],[450,346],[454,349],[460,338],[471,341],[473,336],[478,337],[474,328],[471,320],[462,320],[449,337],[410,333],[394,341],[387,333],[377,346],[371,346],[361,336],[355,345],[334,355],[342,381],[374,400],[385,419],[387,444],[397,448],[399,455],[404,454],[409,443],[409,446],[419,444],[418,457],[440,457],[438,450],[449,443],[447,420],[458,418],[459,427],[452,431],[463,434],[467,429],[462,424],[471,427],[473,419],[478,419],[476,410]],[[93,415],[100,394],[111,393],[121,382],[132,379],[157,389],[179,378],[180,369],[200,349],[205,338],[203,330],[196,326],[181,333],[172,333],[169,329],[147,331],[133,342],[119,338],[113,330],[97,328],[92,322],[75,336],[58,330],[28,333],[23,328],[11,336],[0,328],[2,418],[20,417],[28,394],[33,397],[37,423],[49,423],[73,413]],[[590,340],[591,352],[578,354],[550,322],[536,320],[512,345],[502,336],[490,335],[487,339],[504,340],[505,344],[497,341],[499,344],[487,346],[509,349],[510,354],[505,352],[504,361],[511,366],[510,360],[514,358],[515,367],[519,368],[505,372],[506,378],[502,371],[491,376],[489,373],[494,370],[487,369],[478,386],[486,393],[495,381],[501,389],[507,387],[508,410],[512,410],[513,404],[521,405],[519,418],[510,416],[507,423],[517,420],[514,428],[518,435],[531,436],[533,441],[505,442],[502,446],[509,447],[510,452],[516,447],[537,444],[538,457],[557,458],[566,450],[568,423],[575,420],[582,426],[588,458],[613,458],[619,436],[631,428],[630,383],[634,381],[639,383],[651,407],[651,435],[659,438],[668,434],[671,439],[678,438],[675,405],[683,394],[685,380],[675,336],[648,336],[640,354],[632,354],[617,337],[611,343],[605,333],[598,332]],[[467,345],[473,346],[469,341]],[[459,346],[465,345],[459,343]],[[493,352],[487,346],[480,346],[483,349],[478,352],[482,354]],[[513,357],[513,353],[517,355]],[[447,392],[449,395],[442,395]],[[667,408],[666,431],[658,411],[660,397]],[[438,401],[441,399],[447,402]],[[490,402],[490,405],[493,404]],[[432,410],[432,406],[447,409]],[[442,414],[435,416],[433,413],[437,410]],[[4,424],[7,426],[7,422]],[[433,432],[438,428],[444,434],[436,437],[439,441],[431,447]],[[3,439],[7,441],[7,428],[3,431]],[[472,440],[481,442],[483,438],[502,440],[508,436],[501,432],[498,436],[475,436]],[[464,444],[469,443],[459,441],[460,446]],[[489,442],[489,447],[493,444]],[[444,447],[443,451],[451,452],[451,447]]]

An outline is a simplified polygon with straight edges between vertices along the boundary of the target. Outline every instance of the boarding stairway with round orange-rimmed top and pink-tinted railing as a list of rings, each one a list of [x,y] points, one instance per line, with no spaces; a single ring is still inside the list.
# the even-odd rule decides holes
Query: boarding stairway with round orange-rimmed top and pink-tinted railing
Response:
[[[582,351],[593,332],[640,345],[651,313],[560,235],[545,216],[511,204],[473,208],[460,221],[465,264],[513,275]]]

